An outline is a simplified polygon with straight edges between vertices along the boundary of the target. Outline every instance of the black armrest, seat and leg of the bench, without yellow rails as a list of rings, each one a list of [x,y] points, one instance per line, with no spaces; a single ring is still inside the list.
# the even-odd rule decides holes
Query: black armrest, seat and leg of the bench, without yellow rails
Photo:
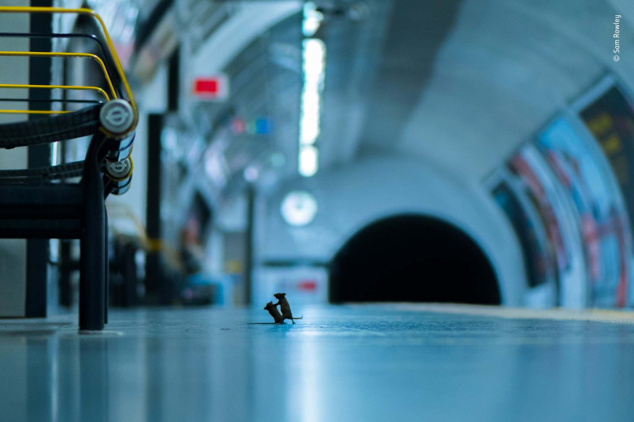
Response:
[[[107,156],[111,161],[127,159],[134,133],[127,132],[119,139],[108,136],[99,118],[94,118],[93,109],[99,116],[102,106],[98,104],[86,108],[77,112],[77,116],[69,116],[71,113],[68,113],[34,121],[40,125],[39,128],[30,125],[30,122],[0,125],[0,147],[5,148],[52,142],[53,139],[72,139],[83,135],[86,130],[93,132],[81,170],[68,171],[68,164],[42,169],[58,169],[61,177],[81,174],[77,183],[53,183],[49,180],[50,174],[38,174],[37,169],[0,171],[1,239],[80,240],[79,330],[103,330],[108,322],[108,216],[105,198],[111,192],[123,193],[131,182],[131,175],[124,180],[113,181],[105,171]],[[92,117],[87,118],[90,113]],[[10,130],[3,131],[3,128]],[[56,128],[60,130],[54,130]],[[78,132],[78,128],[84,132]],[[53,132],[55,135],[50,135]],[[6,137],[6,133],[18,135]],[[55,176],[55,173],[52,174]]]

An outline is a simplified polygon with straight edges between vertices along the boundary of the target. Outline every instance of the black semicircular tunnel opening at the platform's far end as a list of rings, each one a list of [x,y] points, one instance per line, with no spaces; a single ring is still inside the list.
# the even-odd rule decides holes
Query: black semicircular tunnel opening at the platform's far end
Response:
[[[406,214],[357,232],[330,263],[330,302],[500,304],[488,258],[467,233]]]

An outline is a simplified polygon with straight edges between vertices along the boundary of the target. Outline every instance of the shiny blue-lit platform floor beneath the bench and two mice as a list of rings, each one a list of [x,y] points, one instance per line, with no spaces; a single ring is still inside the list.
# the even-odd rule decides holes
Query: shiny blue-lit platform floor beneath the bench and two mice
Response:
[[[1,421],[631,421],[634,316],[434,304],[0,320]]]

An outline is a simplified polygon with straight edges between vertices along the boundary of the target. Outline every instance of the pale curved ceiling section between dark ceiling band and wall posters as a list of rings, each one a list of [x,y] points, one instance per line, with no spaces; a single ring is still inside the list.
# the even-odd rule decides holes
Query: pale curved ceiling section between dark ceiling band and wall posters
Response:
[[[480,180],[606,70],[633,84],[634,57],[612,61],[615,13],[597,0],[465,0],[399,151]]]

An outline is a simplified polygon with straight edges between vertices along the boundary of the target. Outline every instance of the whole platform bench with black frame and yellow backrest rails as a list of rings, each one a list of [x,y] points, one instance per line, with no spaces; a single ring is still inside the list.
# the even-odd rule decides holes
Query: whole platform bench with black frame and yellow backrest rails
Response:
[[[79,239],[79,329],[102,330],[108,322],[108,216],[105,197],[122,194],[132,179],[132,151],[138,111],[112,39],[103,19],[86,8],[0,6],[0,13],[72,14],[87,16],[101,34],[7,33],[0,37],[92,39],[101,58],[87,53],[49,51],[0,52],[2,55],[75,56],[93,58],[101,64],[110,85],[112,101],[98,87],[68,86],[68,89],[94,89],[107,102],[71,113],[41,110],[55,114],[48,118],[0,125],[0,149],[32,146],[91,136],[86,158],[44,168],[0,170],[0,239]],[[116,71],[113,71],[116,70]],[[114,82],[114,85],[112,84]],[[56,85],[15,85],[22,88],[53,89]],[[6,85],[5,87],[8,87]],[[124,96],[124,92],[126,96]],[[123,98],[126,97],[126,100]],[[2,101],[24,101],[3,98]],[[86,102],[78,99],[27,99],[29,102]],[[4,110],[30,112],[25,110]],[[63,113],[63,114],[61,114]],[[78,183],[66,183],[81,176]],[[53,182],[59,179],[61,183]]]

